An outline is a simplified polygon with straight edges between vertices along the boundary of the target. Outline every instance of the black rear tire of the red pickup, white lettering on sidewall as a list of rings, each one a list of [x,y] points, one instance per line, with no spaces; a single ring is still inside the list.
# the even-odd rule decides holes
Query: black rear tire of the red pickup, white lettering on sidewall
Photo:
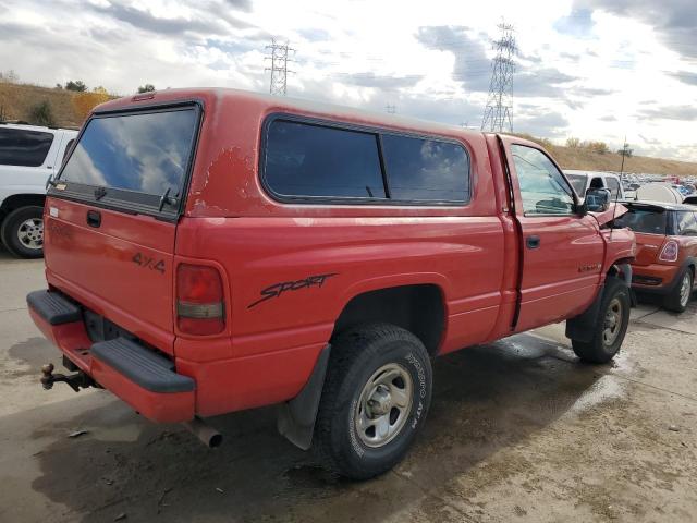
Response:
[[[388,396],[389,400],[382,405],[387,409],[387,414],[383,414],[388,416],[387,423],[392,426],[395,409],[400,412],[398,416],[403,417],[395,418],[395,433],[391,439],[376,443],[380,445],[376,448],[364,442],[364,438],[370,437],[370,428],[362,435],[356,416],[359,417],[359,413],[364,412],[359,408],[364,387],[367,387],[376,374],[381,376],[378,370],[386,366],[393,368],[393,372],[406,373],[404,377],[407,379],[401,381],[403,390],[408,390],[409,385],[405,384],[411,378],[412,393],[404,394],[411,397],[411,403],[400,411],[396,406],[391,406],[392,396]],[[389,374],[384,372],[382,375]],[[396,384],[399,387],[399,380],[403,378],[395,379],[392,385]],[[322,464],[332,472],[353,479],[367,479],[392,469],[402,460],[426,419],[431,401],[431,364],[426,348],[407,330],[389,324],[371,324],[340,335],[332,342],[327,379],[315,424],[315,449]],[[371,387],[366,390],[371,390]],[[376,430],[377,425],[374,434],[379,437]]]

